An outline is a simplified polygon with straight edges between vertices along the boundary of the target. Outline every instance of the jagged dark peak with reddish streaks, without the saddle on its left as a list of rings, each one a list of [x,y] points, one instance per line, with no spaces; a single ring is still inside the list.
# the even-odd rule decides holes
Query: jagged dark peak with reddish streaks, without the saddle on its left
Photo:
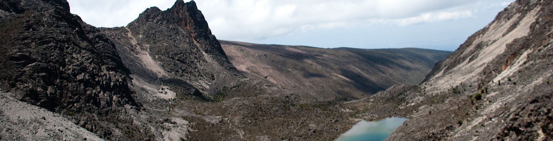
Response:
[[[154,62],[161,62],[159,68],[201,91],[213,90],[205,93],[217,93],[233,80],[225,74],[237,72],[194,1],[178,0],[166,11],[148,8],[126,28],[127,34],[138,37],[129,40],[149,50]]]

